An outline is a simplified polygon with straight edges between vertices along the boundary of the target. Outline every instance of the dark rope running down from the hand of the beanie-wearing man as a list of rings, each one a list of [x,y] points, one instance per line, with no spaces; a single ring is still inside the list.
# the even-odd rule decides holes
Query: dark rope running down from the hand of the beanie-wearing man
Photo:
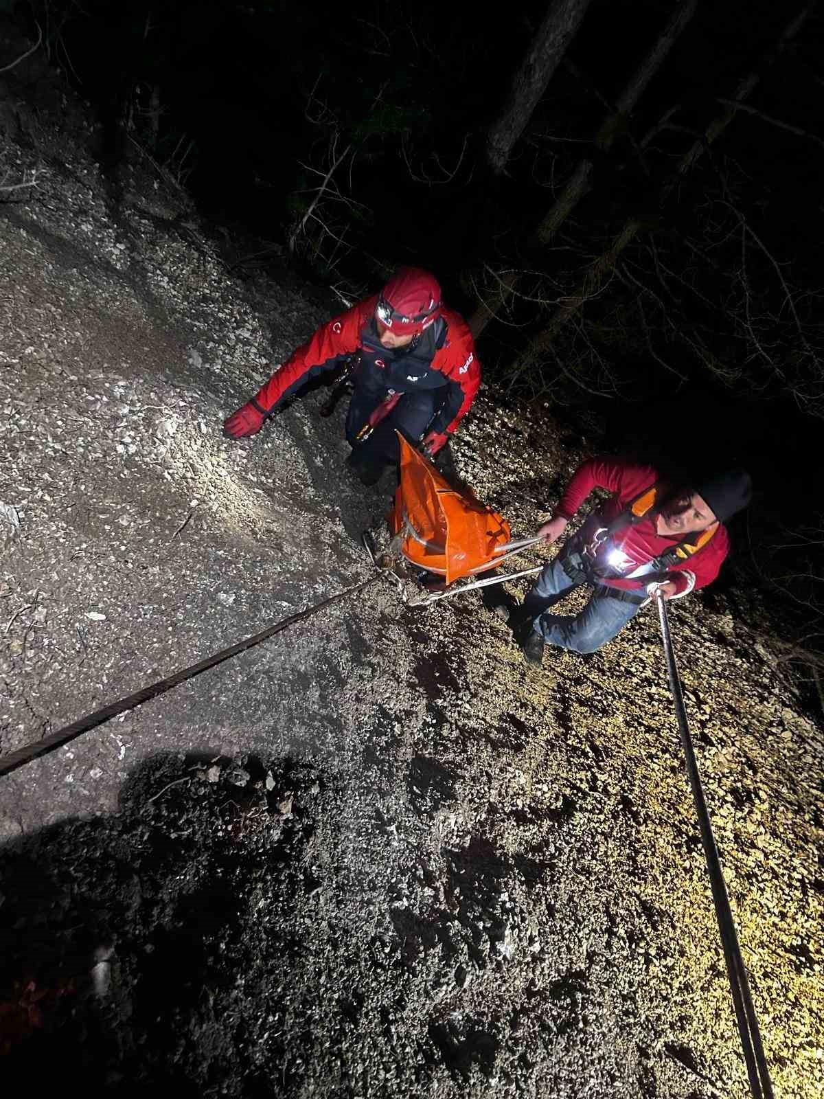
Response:
[[[667,659],[667,675],[669,686],[672,691],[672,699],[678,718],[678,729],[681,735],[681,746],[687,761],[687,774],[692,787],[692,797],[695,802],[698,823],[701,830],[701,843],[704,848],[704,858],[710,874],[710,886],[712,888],[712,899],[715,906],[715,918],[719,922],[721,942],[724,947],[724,961],[730,978],[730,988],[733,993],[733,1004],[735,1007],[735,1018],[738,1024],[744,1061],[747,1066],[749,1077],[749,1089],[753,1099],[773,1099],[772,1083],[770,1080],[767,1058],[764,1054],[761,1034],[758,1029],[758,1018],[756,1015],[753,997],[747,981],[747,970],[744,967],[738,936],[735,931],[732,909],[730,908],[730,897],[724,881],[724,872],[721,868],[719,848],[715,845],[715,836],[712,831],[712,821],[706,808],[706,798],[701,785],[701,773],[695,758],[695,750],[690,736],[690,726],[687,721],[687,710],[683,704],[683,691],[681,679],[678,674],[676,654],[672,647],[672,637],[669,631],[669,619],[667,618],[667,604],[660,589],[655,590],[655,601],[658,607],[658,618],[661,628],[661,639],[664,642],[664,653]]]

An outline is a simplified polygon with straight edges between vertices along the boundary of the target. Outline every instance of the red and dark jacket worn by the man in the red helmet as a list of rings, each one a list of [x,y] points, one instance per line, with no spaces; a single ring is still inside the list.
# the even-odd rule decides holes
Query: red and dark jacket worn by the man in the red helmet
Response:
[[[377,301],[378,296],[375,295],[322,324],[311,340],[293,351],[272,374],[255,398],[258,404],[267,412],[270,411],[279,401],[297,392],[309,377],[323,370],[332,370],[339,365],[342,357],[364,351],[365,341],[370,344],[374,353],[377,342],[374,329]],[[439,346],[435,349],[433,344],[431,358],[423,362],[420,357],[415,359],[415,369],[411,376],[403,368],[402,355],[394,365],[391,363],[391,353],[382,357],[378,353],[374,360],[379,368],[387,370],[387,389],[408,392],[419,388],[443,388],[444,400],[430,430],[454,432],[469,411],[480,388],[480,363],[475,354],[469,328],[460,314],[444,308],[441,318],[431,329],[434,330],[436,325],[439,325]],[[426,343],[426,333],[430,330],[424,333],[422,345]],[[385,359],[389,366],[385,365]]]

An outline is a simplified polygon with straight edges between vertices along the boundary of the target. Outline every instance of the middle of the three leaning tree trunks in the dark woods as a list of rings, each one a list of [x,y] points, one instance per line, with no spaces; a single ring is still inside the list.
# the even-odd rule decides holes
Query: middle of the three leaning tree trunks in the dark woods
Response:
[[[601,123],[594,142],[602,149],[609,149],[614,141],[615,134],[621,127],[621,122],[626,114],[630,114],[644,93],[647,85],[653,79],[664,63],[672,45],[677,41],[681,31],[689,23],[695,11],[698,0],[681,0],[673,10],[672,15],[659,34],[653,48],[644,57],[641,65],[633,73],[624,90],[617,98],[615,110],[612,111]],[[578,206],[581,199],[592,189],[591,177],[594,165],[590,159],[581,158],[576,165],[572,175],[565,184],[563,190],[553,203],[549,212],[544,217],[541,224],[532,235],[530,245],[532,247],[548,244],[560,226]],[[489,298],[481,302],[469,320],[469,328],[477,337],[495,313],[503,307],[506,298],[517,284],[517,276],[512,274],[509,280],[502,279],[491,288]]]

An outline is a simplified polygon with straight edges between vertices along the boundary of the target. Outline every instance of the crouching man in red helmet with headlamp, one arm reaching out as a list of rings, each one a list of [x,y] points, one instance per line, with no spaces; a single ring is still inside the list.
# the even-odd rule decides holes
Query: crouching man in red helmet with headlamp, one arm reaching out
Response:
[[[321,325],[259,392],[223,425],[231,439],[254,435],[310,378],[356,356],[346,418],[349,464],[374,485],[398,464],[396,429],[434,457],[469,411],[480,364],[466,321],[441,301],[428,271],[403,267],[380,293]]]

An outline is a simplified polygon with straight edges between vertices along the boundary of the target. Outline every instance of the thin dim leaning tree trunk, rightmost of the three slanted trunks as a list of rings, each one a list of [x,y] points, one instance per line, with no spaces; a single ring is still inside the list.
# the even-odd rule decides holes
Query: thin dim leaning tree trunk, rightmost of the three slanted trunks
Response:
[[[775,48],[770,51],[767,57],[765,57],[760,69],[748,73],[747,76],[738,82],[738,87],[732,97],[736,103],[743,102],[747,99],[761,79],[764,70],[772,64],[778,54],[795,37],[804,23],[804,20],[814,7],[814,0],[812,0],[811,3],[805,4],[801,12],[784,27],[784,31],[779,41],[776,43]],[[659,197],[660,204],[669,198],[671,192],[678,186],[679,180],[687,175],[701,155],[709,149],[713,142],[721,136],[721,134],[723,134],[732,120],[735,118],[735,108],[728,107],[725,111],[723,111],[723,113],[719,114],[717,118],[713,119],[704,131],[703,138],[695,141],[687,153],[684,153],[678,162],[676,171],[661,187]],[[589,266],[575,293],[569,295],[561,301],[549,324],[538,332],[538,334],[530,343],[530,346],[526,348],[524,354],[520,356],[515,370],[516,375],[522,374],[533,364],[539,362],[544,357],[546,348],[552,346],[555,342],[555,338],[564,324],[566,324],[571,317],[575,317],[588,299],[599,292],[606,277],[614,270],[619,256],[637,236],[642,225],[643,222],[636,220],[635,218],[627,219],[621,232],[614,238],[606,252],[599,256],[598,259]]]

